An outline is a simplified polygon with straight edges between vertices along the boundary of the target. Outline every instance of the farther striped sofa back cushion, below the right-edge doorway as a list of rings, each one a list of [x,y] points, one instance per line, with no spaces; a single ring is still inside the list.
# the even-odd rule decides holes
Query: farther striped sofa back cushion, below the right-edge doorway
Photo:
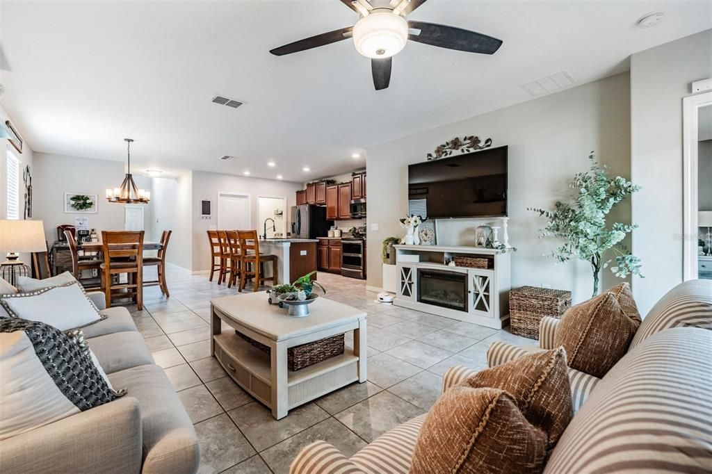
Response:
[[[656,332],[684,326],[712,330],[712,280],[688,280],[661,297],[643,320],[629,350]]]

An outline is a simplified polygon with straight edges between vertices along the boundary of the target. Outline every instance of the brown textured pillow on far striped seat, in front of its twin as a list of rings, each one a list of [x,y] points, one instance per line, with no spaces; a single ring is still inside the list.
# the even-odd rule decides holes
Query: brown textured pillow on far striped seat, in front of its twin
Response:
[[[554,344],[566,349],[569,367],[602,378],[625,355],[639,325],[614,293],[603,293],[564,313]]]

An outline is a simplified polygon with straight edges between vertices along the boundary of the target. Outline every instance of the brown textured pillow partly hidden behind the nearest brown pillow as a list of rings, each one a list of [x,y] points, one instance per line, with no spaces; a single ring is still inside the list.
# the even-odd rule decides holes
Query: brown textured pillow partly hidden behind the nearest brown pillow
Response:
[[[563,347],[533,352],[484,369],[462,382],[507,391],[530,423],[543,429],[553,448],[573,417],[571,384]]]

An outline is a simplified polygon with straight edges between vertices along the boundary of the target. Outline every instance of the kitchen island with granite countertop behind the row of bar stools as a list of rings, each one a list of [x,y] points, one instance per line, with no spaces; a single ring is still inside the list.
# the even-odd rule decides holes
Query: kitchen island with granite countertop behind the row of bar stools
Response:
[[[260,253],[271,254],[277,257],[275,268],[277,281],[293,283],[294,280],[307,273],[316,271],[316,244],[315,238],[268,238],[260,241]],[[270,265],[265,265],[265,273],[272,275]],[[316,275],[312,277],[316,280]]]

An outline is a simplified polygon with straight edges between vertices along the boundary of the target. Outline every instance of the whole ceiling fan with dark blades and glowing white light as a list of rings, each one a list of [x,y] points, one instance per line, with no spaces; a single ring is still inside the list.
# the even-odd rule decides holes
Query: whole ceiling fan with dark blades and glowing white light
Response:
[[[491,36],[454,26],[409,21],[404,16],[426,0],[340,0],[361,15],[354,26],[311,36],[270,51],[275,56],[298,53],[353,38],[356,50],[371,58],[373,85],[376,90],[388,87],[391,80],[392,57],[402,51],[408,40],[439,48],[468,53],[493,54],[502,41]]]

